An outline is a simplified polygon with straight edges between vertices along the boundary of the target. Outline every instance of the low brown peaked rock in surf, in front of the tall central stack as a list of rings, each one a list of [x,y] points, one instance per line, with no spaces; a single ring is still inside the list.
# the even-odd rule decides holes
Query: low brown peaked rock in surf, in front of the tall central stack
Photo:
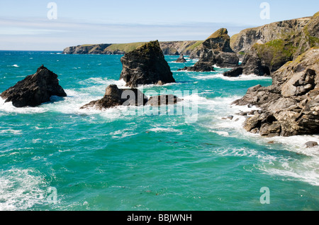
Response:
[[[91,101],[80,109],[108,109],[115,106],[144,106],[147,97],[138,89],[118,89],[115,84],[106,87],[106,92],[102,99]]]

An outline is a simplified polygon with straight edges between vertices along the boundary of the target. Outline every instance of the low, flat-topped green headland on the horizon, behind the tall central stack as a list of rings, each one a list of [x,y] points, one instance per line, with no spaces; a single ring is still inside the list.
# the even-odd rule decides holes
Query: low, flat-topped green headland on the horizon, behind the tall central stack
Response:
[[[184,41],[163,41],[159,42],[164,55],[189,55],[201,40],[184,40]],[[102,54],[102,55],[124,55],[141,45],[144,42],[124,43],[124,44],[96,44],[96,45],[77,45],[67,47],[63,50],[64,54]]]

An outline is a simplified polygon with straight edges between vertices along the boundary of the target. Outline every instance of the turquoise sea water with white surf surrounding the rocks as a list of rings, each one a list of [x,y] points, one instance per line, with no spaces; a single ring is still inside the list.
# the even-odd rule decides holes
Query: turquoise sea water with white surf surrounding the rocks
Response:
[[[195,61],[165,57],[177,83],[141,89],[180,91],[198,103],[191,116],[80,110],[109,84],[124,86],[121,55],[1,51],[0,92],[45,65],[68,97],[23,109],[0,100],[0,210],[319,209],[319,148],[304,146],[318,136],[247,133],[236,113],[251,109],[231,105],[271,78],[177,72]],[[260,201],[262,187],[269,204]]]

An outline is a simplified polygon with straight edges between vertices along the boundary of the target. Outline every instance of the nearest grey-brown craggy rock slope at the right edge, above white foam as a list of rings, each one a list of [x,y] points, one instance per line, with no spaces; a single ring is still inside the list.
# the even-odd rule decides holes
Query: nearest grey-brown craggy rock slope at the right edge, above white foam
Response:
[[[258,106],[244,128],[262,136],[319,133],[319,48],[311,48],[272,74],[269,87],[248,89],[237,105]]]

